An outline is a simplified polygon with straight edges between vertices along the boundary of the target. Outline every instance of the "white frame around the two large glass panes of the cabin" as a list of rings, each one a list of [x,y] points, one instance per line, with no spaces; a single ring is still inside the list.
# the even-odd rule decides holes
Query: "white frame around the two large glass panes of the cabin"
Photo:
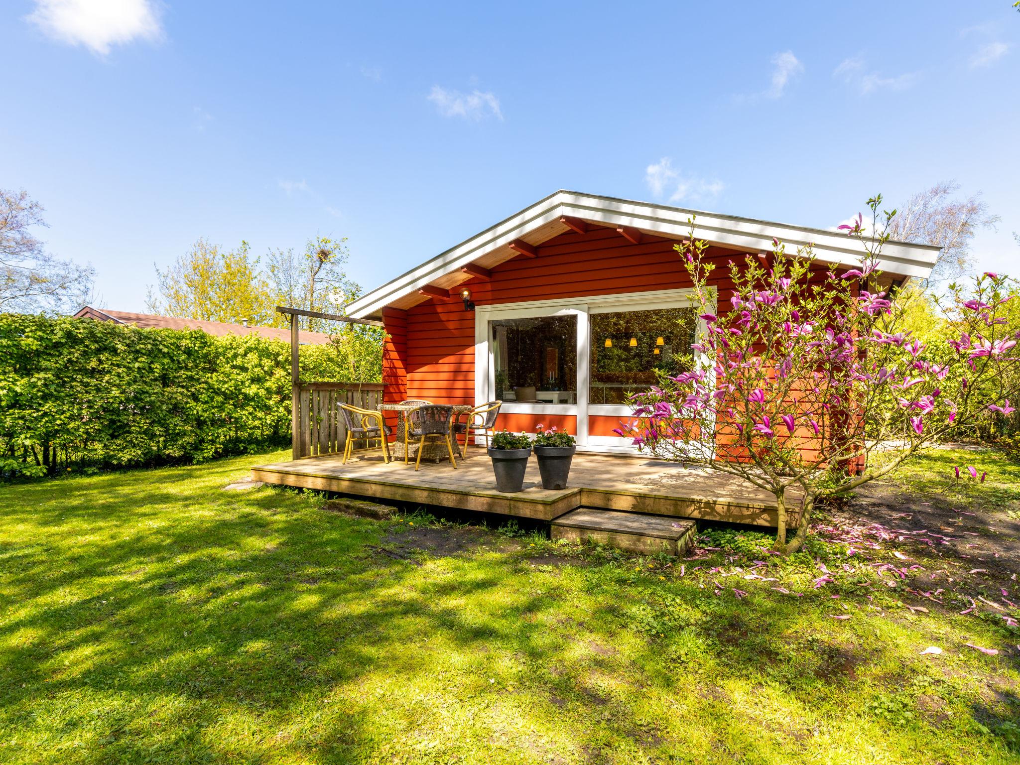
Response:
[[[478,306],[474,311],[474,401],[483,404],[496,395],[496,369],[493,350],[490,347],[489,322],[495,319],[539,318],[542,316],[575,315],[577,317],[577,392],[576,404],[517,404],[503,403],[500,410],[507,414],[559,414],[576,418],[577,446],[585,451],[619,452],[632,454],[635,450],[629,439],[610,436],[589,436],[590,415],[616,416],[626,418],[630,409],[625,405],[590,405],[590,381],[592,354],[591,321],[593,313],[617,313],[631,310],[657,310],[665,308],[691,308],[694,290],[657,290],[654,292],[620,293],[616,295],[594,295],[581,298],[536,300],[520,303],[499,303]],[[710,309],[714,312],[716,296],[713,291]],[[702,340],[708,330],[704,319],[699,318],[696,341]],[[699,354],[698,361],[704,361]]]

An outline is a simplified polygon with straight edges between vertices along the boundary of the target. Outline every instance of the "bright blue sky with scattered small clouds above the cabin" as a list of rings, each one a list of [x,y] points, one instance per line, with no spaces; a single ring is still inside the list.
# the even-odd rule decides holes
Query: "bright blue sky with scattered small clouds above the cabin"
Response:
[[[824,227],[955,178],[1008,270],[1010,5],[18,0],[0,188],[121,310],[198,237],[371,289],[557,189]]]

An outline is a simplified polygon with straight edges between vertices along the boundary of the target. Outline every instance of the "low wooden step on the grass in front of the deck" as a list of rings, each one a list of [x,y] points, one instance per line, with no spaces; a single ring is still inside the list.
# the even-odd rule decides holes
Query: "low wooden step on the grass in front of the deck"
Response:
[[[553,520],[553,540],[591,540],[628,553],[683,555],[694,544],[698,529],[690,518],[670,518],[644,513],[621,513],[582,507]]]

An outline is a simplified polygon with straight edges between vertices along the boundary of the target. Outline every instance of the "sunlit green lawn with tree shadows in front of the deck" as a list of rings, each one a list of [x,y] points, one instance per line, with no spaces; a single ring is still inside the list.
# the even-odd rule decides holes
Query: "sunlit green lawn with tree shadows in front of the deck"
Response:
[[[220,491],[284,456],[0,489],[0,761],[1020,761],[1017,630],[911,611],[845,546],[670,565],[441,526],[460,549],[407,560],[421,515]]]

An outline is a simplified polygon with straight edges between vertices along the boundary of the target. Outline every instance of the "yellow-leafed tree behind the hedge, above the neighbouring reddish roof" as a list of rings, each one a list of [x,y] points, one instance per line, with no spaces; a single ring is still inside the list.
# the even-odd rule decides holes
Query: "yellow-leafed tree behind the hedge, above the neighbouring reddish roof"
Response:
[[[269,285],[247,242],[223,251],[199,239],[165,271],[156,268],[159,296],[150,294],[152,313],[206,321],[268,324],[275,318]]]

